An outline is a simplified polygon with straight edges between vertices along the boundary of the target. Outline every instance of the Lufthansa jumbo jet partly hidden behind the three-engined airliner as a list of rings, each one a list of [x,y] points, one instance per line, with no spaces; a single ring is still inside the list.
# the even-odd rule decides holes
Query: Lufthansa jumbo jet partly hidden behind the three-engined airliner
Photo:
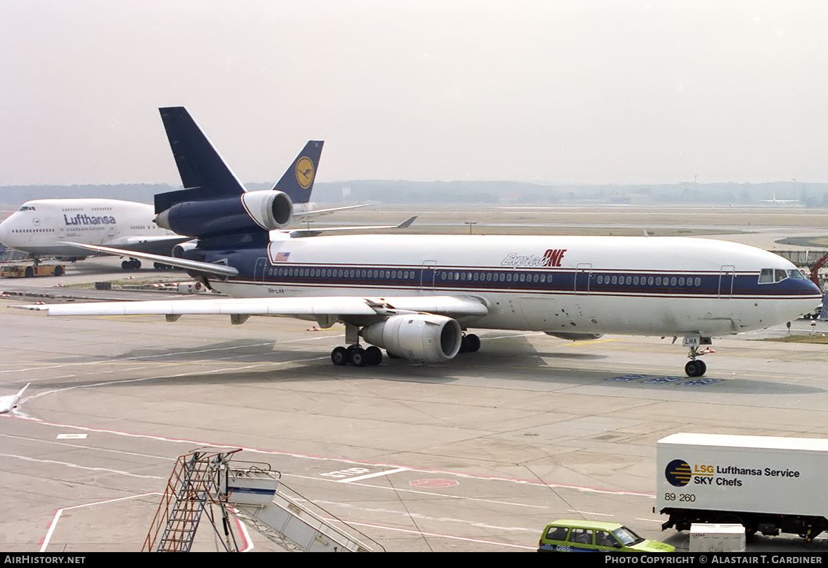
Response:
[[[307,142],[282,179],[273,186],[272,195],[289,196],[291,200],[291,209],[288,211],[287,206],[283,205],[282,215],[299,219],[306,215],[361,206],[317,209],[310,202],[323,144],[324,142],[315,140]],[[215,159],[216,156],[209,156],[209,149],[205,152],[208,159]],[[208,166],[190,167],[183,161],[185,158],[179,156],[176,156],[176,160],[181,160],[179,168],[184,168],[182,179],[190,184],[200,184],[198,176],[201,174],[214,175]],[[223,174],[224,178],[218,178],[220,183],[231,186],[240,183],[232,172],[219,172],[219,176]],[[79,248],[65,244],[66,242],[119,248],[124,251],[123,256],[128,257],[121,263],[121,267],[124,270],[137,270],[141,267],[141,262],[132,253],[171,254],[174,247],[190,240],[190,237],[160,227],[153,221],[154,217],[152,205],[132,201],[31,200],[0,223],[0,243],[7,248],[28,253],[32,258],[55,257],[65,262],[85,258],[84,254],[80,254]],[[166,268],[171,265],[155,262],[154,266]]]

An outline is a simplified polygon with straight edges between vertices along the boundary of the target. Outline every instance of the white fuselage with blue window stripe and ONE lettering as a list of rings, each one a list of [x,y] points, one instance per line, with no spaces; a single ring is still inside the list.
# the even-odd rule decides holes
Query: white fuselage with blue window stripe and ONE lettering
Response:
[[[705,238],[278,238],[267,252],[208,255],[222,258],[248,267],[211,280],[229,296],[474,296],[489,314],[463,325],[561,334],[733,334],[791,320],[821,299],[787,260]],[[770,282],[760,282],[763,271]]]

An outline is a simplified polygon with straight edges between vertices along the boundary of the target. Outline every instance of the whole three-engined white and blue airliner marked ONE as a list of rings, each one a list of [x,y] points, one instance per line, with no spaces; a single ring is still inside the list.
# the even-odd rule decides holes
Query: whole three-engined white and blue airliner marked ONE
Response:
[[[161,108],[179,156],[218,156],[182,107]],[[194,159],[187,160],[195,163]],[[203,160],[213,179],[229,171]],[[209,164],[209,167],[208,167]],[[602,334],[684,338],[688,376],[706,372],[711,338],[792,320],[821,293],[791,262],[738,243],[681,237],[307,235],[280,228],[267,192],[200,185],[156,195],[156,223],[192,238],[173,258],[228,298],[24,306],[49,315],[226,314],[344,324],[337,365],[392,357],[442,363],[480,348],[470,329],[542,331],[563,339]],[[98,253],[114,248],[84,245]],[[675,339],[674,339],[675,340]],[[369,344],[363,348],[363,344]]]

